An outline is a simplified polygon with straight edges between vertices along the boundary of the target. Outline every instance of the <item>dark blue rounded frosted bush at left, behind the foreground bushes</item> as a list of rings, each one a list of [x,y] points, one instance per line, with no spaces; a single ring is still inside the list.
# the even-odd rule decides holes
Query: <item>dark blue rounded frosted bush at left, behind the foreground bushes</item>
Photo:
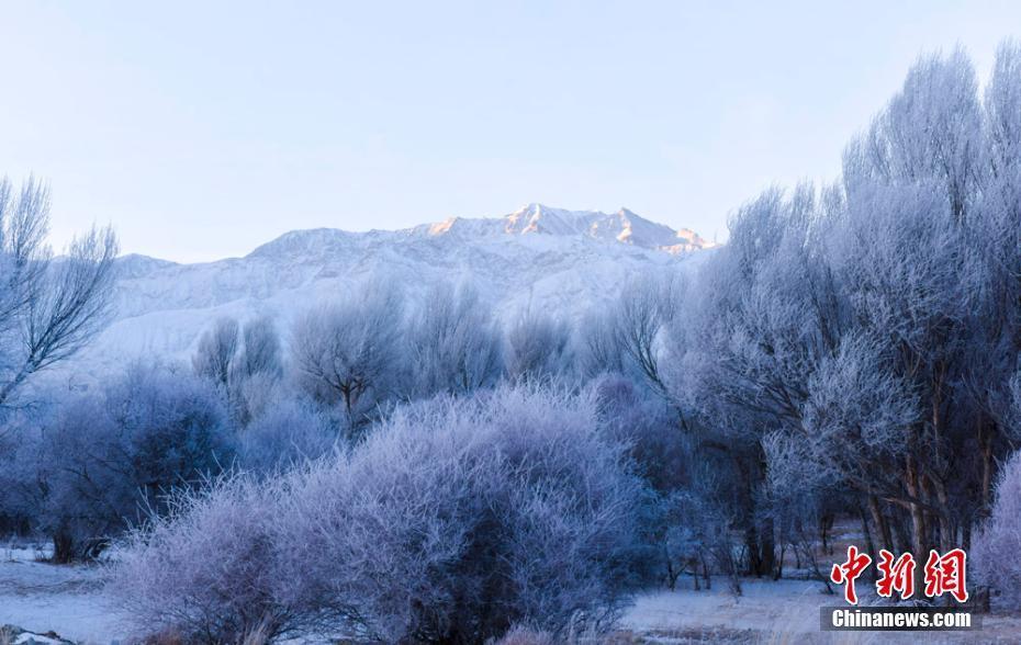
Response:
[[[42,521],[58,562],[98,555],[171,488],[229,463],[226,411],[197,377],[134,366],[99,395],[68,401],[44,434]]]

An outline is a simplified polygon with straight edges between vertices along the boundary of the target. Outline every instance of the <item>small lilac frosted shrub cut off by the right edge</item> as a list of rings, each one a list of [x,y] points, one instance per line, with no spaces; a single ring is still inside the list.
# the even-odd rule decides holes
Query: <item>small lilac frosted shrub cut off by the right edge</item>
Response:
[[[1000,593],[1010,609],[1021,609],[1021,452],[1007,462],[996,486],[992,513],[972,543],[974,573]]]

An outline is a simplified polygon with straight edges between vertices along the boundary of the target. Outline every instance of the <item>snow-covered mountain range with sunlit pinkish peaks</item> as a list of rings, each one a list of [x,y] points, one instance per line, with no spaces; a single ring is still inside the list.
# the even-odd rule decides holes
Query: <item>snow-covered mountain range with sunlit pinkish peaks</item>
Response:
[[[74,363],[97,372],[138,357],[184,358],[221,316],[268,314],[284,330],[315,303],[343,298],[377,276],[402,285],[412,299],[437,281],[467,281],[504,316],[528,306],[574,316],[637,274],[693,268],[705,257],[697,251],[713,246],[626,208],[529,204],[504,217],[453,217],[403,230],[294,230],[216,262],[125,256],[117,260],[115,318]]]

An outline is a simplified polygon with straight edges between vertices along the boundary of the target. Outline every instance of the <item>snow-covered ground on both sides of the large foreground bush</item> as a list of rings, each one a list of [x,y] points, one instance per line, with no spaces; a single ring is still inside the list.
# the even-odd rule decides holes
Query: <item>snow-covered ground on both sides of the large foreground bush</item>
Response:
[[[124,615],[102,591],[102,567],[57,566],[45,552],[0,547],[0,624],[85,644],[127,641]],[[981,632],[958,634],[822,634],[821,606],[837,604],[821,585],[805,580],[743,580],[734,597],[726,579],[695,591],[680,580],[675,591],[639,595],[622,616],[615,643],[1018,643],[1021,618],[984,616]]]

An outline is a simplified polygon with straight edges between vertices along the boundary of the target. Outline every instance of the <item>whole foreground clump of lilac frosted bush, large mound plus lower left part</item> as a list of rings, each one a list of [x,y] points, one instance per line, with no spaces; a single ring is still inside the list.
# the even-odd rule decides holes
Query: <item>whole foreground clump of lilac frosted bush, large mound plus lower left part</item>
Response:
[[[261,496],[238,497],[253,489],[232,480],[183,503],[136,536],[114,589],[134,599],[143,626],[206,642],[238,637],[255,613],[278,631],[385,642],[481,643],[518,623],[597,627],[632,585],[642,487],[629,469],[588,397],[525,387],[441,397],[400,409],[351,453],[291,471]],[[271,525],[229,510],[239,507]],[[235,575],[232,563],[263,534],[267,577]],[[181,568],[195,573],[169,584]],[[257,601],[237,600],[260,585]],[[242,604],[261,610],[242,616]],[[197,614],[227,627],[202,636],[189,626]]]

